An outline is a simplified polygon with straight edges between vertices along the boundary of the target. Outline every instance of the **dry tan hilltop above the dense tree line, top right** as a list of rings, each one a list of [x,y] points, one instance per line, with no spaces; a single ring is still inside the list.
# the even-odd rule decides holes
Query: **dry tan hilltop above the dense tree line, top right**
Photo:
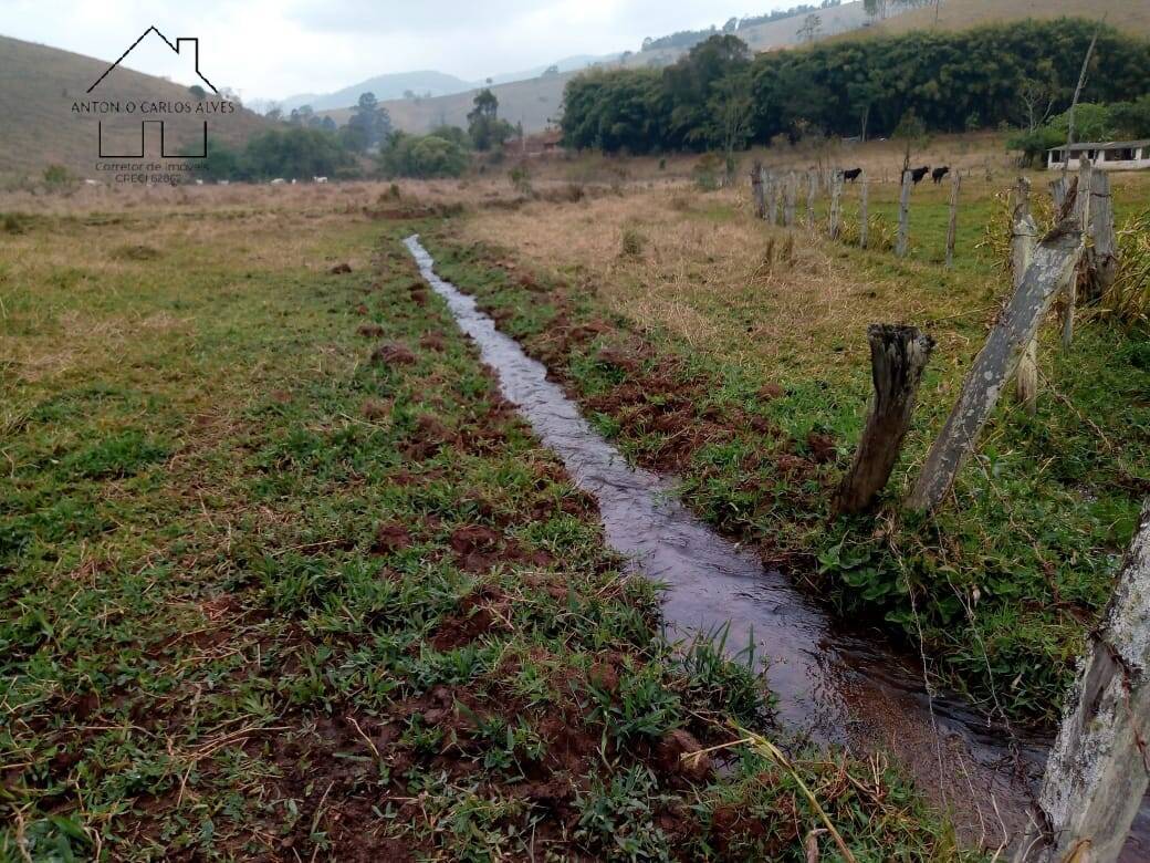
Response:
[[[998,24],[1034,18],[1046,21],[1060,17],[1101,18],[1127,36],[1150,37],[1150,2],[1148,0],[942,0],[938,6],[937,26],[943,30],[965,30],[980,24]],[[935,26],[935,7],[913,9],[898,17],[875,24],[864,31],[867,36],[905,33]]]

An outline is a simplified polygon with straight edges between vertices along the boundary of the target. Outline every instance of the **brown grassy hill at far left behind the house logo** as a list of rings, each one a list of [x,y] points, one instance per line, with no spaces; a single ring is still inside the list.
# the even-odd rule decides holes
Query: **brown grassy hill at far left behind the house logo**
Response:
[[[63,165],[78,176],[94,177],[100,117],[72,114],[75,100],[194,101],[182,84],[123,67],[109,74],[98,92],[85,94],[110,62],[0,36],[0,174],[38,175],[48,165]],[[200,140],[202,120],[166,122],[169,150]],[[117,123],[123,129],[117,129]],[[131,123],[117,119],[106,122],[113,140],[117,132],[126,133],[128,125]],[[268,121],[246,109],[208,119],[209,140],[231,146],[243,145],[268,128]],[[138,123],[135,129],[138,146]]]

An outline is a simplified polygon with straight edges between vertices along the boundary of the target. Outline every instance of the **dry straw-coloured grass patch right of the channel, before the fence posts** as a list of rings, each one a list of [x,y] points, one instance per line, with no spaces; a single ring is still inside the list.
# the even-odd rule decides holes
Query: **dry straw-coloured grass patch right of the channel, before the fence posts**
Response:
[[[530,204],[467,222],[470,239],[574,274],[611,311],[722,360],[826,371],[864,357],[873,321],[965,311],[954,295],[862,281],[841,250],[750,217],[742,190],[651,190],[573,205]],[[637,234],[642,249],[622,253]],[[813,350],[812,350],[813,349]]]

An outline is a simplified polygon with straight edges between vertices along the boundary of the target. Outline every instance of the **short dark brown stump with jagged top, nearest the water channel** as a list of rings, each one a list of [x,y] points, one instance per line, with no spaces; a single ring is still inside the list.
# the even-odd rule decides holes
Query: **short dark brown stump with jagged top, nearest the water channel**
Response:
[[[887,487],[895,469],[903,438],[911,427],[914,399],[927,367],[934,339],[914,327],[873,323],[867,328],[871,343],[871,379],[874,399],[867,414],[862,438],[854,460],[843,476],[831,504],[838,514],[862,512]]]

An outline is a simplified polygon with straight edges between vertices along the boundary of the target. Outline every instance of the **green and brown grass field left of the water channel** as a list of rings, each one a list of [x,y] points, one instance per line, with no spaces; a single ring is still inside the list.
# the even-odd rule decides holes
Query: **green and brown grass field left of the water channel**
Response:
[[[0,860],[802,861],[800,780],[968,856],[881,762],[681,759],[769,694],[658,639],[413,226],[198,200],[0,220]]]

